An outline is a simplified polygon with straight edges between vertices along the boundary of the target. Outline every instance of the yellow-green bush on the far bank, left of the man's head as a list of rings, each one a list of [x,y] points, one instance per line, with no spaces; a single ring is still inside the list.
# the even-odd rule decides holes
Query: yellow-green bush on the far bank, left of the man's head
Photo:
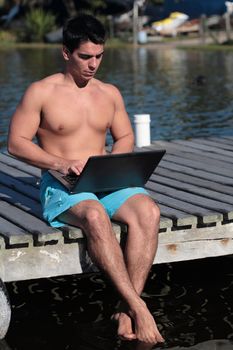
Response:
[[[25,34],[29,41],[44,41],[45,35],[55,28],[55,16],[42,9],[34,9],[26,14]]]

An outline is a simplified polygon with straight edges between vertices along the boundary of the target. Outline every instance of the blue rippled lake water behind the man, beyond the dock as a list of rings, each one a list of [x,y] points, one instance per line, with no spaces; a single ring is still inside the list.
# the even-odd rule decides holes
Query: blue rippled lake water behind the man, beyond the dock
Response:
[[[98,76],[120,88],[132,119],[151,114],[152,139],[231,135],[232,60],[228,51],[107,49]],[[26,87],[62,69],[59,48],[0,51],[0,147]]]

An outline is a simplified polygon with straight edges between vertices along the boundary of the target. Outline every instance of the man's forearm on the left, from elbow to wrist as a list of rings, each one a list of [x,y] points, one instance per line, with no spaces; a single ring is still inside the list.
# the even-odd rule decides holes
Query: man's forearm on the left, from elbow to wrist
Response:
[[[66,165],[65,159],[47,153],[40,146],[26,139],[8,142],[8,152],[40,169],[59,170]]]

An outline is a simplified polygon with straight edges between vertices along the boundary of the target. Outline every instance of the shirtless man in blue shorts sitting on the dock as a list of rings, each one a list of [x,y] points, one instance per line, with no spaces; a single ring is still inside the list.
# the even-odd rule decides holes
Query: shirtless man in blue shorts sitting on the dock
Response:
[[[122,298],[113,316],[118,335],[154,344],[163,338],[140,294],[157,248],[158,207],[143,188],[98,197],[94,193],[70,195],[46,171],[80,174],[88,157],[105,154],[108,129],[114,139],[112,153],[133,150],[133,131],[121,94],[94,78],[104,43],[105,30],[94,17],[79,15],[68,21],[63,31],[65,72],[29,86],[12,117],[8,150],[42,169],[41,202],[50,225],[68,223],[85,233],[92,260]],[[33,143],[34,136],[38,144]],[[128,224],[124,252],[110,218]]]

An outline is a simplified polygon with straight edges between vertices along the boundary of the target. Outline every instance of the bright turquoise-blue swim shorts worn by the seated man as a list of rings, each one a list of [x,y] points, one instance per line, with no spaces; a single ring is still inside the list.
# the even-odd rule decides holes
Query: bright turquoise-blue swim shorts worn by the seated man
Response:
[[[92,199],[100,202],[112,218],[128,198],[140,193],[149,195],[143,187],[129,187],[97,194],[91,192],[71,194],[48,172],[42,175],[40,184],[43,217],[52,227],[64,226],[65,224],[58,220],[58,216],[84,200]]]

